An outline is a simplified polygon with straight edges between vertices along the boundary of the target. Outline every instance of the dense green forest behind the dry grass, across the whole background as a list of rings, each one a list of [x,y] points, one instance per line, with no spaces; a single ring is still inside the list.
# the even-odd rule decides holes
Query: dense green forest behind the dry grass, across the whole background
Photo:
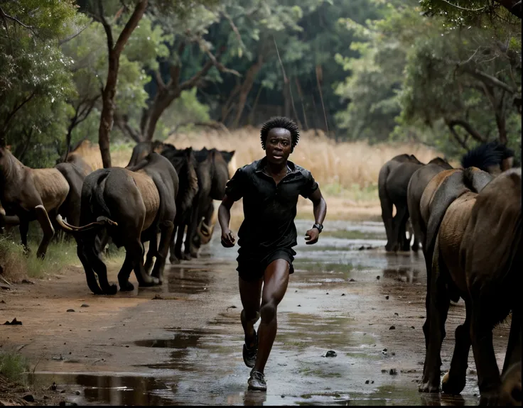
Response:
[[[520,159],[521,51],[512,0],[4,1],[0,139],[31,167],[89,139],[107,167],[124,140],[286,115]]]

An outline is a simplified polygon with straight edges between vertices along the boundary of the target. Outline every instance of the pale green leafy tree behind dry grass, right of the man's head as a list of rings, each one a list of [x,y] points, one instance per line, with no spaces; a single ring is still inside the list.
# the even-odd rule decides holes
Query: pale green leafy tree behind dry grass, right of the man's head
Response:
[[[350,72],[336,88],[336,94],[350,101],[347,109],[336,115],[350,139],[382,141],[394,131],[401,112],[398,92],[404,79],[407,44],[427,28],[409,3],[389,5],[381,11],[381,19],[366,25],[351,18],[340,21],[361,39],[350,45],[355,57],[336,55],[336,61]]]

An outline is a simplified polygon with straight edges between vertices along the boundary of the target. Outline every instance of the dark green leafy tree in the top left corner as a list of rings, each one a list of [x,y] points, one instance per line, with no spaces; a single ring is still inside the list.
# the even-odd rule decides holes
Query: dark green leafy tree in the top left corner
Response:
[[[75,7],[69,1],[23,0],[0,6],[0,138],[28,165],[44,164],[63,128],[72,92],[70,60],[58,39],[70,34]],[[37,143],[41,147],[32,154]]]

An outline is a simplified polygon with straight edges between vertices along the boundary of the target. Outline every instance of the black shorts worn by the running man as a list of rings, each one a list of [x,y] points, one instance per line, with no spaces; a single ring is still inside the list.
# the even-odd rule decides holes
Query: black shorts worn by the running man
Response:
[[[239,277],[247,282],[255,282],[264,276],[266,268],[276,259],[284,259],[289,263],[289,274],[294,273],[293,260],[296,252],[292,248],[276,248],[269,253],[259,253],[256,251],[238,250],[238,271]]]

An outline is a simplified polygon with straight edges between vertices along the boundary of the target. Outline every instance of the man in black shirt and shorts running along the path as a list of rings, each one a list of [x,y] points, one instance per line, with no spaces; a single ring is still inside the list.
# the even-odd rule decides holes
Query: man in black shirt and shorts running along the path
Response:
[[[289,118],[271,118],[260,133],[265,157],[239,168],[227,182],[218,221],[222,246],[231,248],[235,238],[229,228],[230,209],[243,197],[244,221],[238,232],[237,258],[245,332],[243,359],[252,368],[249,390],[266,391],[264,368],[276,337],[276,311],[294,272],[298,195],[313,202],[316,224],[306,232],[308,244],[318,242],[327,204],[311,172],[288,160],[299,139],[296,123]],[[257,333],[254,324],[260,316]]]

